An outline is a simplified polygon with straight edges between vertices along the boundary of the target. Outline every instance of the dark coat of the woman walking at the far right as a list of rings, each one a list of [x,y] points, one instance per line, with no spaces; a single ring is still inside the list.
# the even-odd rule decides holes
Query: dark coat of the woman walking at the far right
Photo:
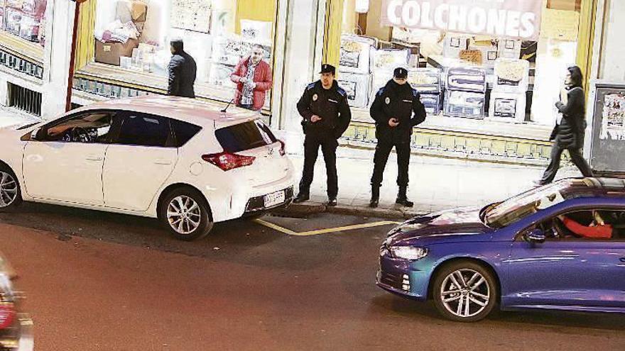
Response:
[[[584,147],[586,129],[584,89],[572,87],[567,92],[567,104],[558,101],[555,106],[562,113],[562,121],[553,128],[550,140],[561,149]]]

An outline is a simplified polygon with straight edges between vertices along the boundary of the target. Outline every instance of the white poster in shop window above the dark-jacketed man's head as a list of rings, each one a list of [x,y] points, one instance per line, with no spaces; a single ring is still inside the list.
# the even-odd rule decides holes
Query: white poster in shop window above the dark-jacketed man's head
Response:
[[[211,0],[176,0],[171,4],[173,28],[210,32]]]

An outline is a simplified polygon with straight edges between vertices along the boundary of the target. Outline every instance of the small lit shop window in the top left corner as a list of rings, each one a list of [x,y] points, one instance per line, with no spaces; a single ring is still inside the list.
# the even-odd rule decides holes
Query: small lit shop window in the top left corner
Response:
[[[0,28],[33,43],[45,43],[47,0],[0,1]]]

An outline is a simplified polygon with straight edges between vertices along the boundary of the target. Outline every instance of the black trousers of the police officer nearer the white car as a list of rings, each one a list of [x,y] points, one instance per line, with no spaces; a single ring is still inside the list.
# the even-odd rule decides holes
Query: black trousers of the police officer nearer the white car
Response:
[[[327,174],[327,196],[335,198],[339,193],[339,179],[337,176],[337,147],[339,142],[334,138],[334,133],[325,135],[308,134],[304,140],[304,170],[300,181],[300,194],[310,194],[310,184],[315,172],[315,162],[319,147],[325,161]]]

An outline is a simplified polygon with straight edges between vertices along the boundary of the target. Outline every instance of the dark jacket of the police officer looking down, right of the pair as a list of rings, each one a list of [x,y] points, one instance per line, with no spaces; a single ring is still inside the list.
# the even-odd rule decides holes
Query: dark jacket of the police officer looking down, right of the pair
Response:
[[[418,91],[408,83],[397,84],[392,79],[377,92],[369,112],[376,121],[376,138],[393,143],[409,143],[413,127],[425,121],[425,107]],[[396,118],[399,125],[388,126],[391,118]]]

